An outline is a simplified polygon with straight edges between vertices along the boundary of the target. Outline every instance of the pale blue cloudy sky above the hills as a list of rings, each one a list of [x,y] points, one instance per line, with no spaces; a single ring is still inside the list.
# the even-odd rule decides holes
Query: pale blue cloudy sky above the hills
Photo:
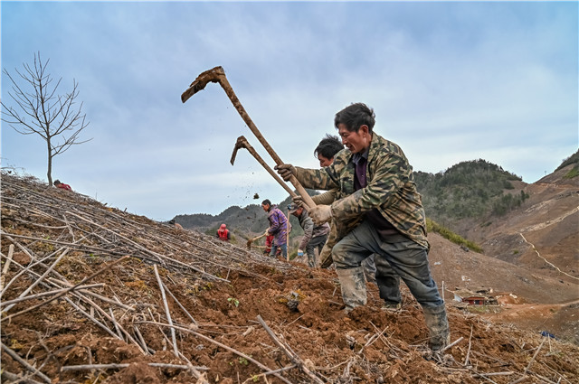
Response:
[[[286,163],[313,149],[352,102],[414,170],[482,158],[534,183],[578,146],[577,2],[9,2],[2,68],[34,52],[61,93],[79,83],[90,120],[54,158],[53,179],[154,220],[217,214],[287,193],[247,152],[274,165],[217,84],[222,66],[243,107]],[[2,75],[2,100],[11,85]],[[2,166],[46,177],[40,136],[5,123]],[[254,193],[260,195],[254,200]]]

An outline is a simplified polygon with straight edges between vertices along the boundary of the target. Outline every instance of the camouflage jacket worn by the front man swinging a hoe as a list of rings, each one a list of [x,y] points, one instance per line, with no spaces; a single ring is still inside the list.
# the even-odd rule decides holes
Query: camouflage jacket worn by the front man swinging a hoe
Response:
[[[296,177],[305,188],[337,188],[336,201],[331,204],[332,215],[350,230],[365,212],[376,208],[396,229],[429,248],[422,197],[416,191],[413,167],[402,149],[373,133],[366,163],[367,185],[356,192],[352,155],[342,150],[334,157],[333,164],[322,169],[296,167]],[[338,230],[338,238],[346,235],[340,232]]]

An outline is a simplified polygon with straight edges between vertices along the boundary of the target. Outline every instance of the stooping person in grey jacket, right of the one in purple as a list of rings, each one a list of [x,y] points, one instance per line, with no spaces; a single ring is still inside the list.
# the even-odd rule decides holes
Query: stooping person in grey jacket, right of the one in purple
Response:
[[[318,267],[316,248],[318,248],[319,254],[324,247],[324,244],[326,244],[327,234],[329,233],[329,224],[327,224],[327,222],[322,225],[314,224],[314,221],[311,220],[308,215],[308,211],[295,202],[288,205],[288,211],[290,214],[298,218],[299,226],[304,229],[304,236],[299,242],[298,257],[302,257],[304,255],[303,249],[306,249],[306,254],[308,255],[308,267]]]

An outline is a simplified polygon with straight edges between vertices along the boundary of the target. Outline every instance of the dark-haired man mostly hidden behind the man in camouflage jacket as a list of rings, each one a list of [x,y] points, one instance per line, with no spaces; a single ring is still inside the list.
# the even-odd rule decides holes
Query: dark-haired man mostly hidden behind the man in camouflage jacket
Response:
[[[344,149],[344,145],[339,137],[326,135],[314,150],[314,156],[319,160],[321,167],[329,166],[334,163],[334,157],[338,152]],[[347,149],[346,149],[347,151]],[[312,196],[316,204],[329,205],[336,200],[337,188],[331,191],[320,193]],[[298,199],[299,200],[299,199]],[[334,226],[335,228],[335,226]],[[331,251],[336,244],[336,233],[332,232],[326,245],[322,248],[320,255],[320,267],[329,267],[332,263]],[[372,254],[362,261],[364,276],[366,281],[375,283],[380,292],[380,298],[384,300],[383,309],[386,311],[397,310],[402,307],[402,295],[400,294],[400,276],[398,276],[390,264],[382,258],[379,260],[384,263],[380,270],[376,270],[375,255]]]

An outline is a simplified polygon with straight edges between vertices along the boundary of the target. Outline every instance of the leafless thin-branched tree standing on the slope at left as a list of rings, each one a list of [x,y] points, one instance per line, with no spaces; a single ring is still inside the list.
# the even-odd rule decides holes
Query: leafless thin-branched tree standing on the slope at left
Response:
[[[46,142],[48,152],[48,183],[52,185],[52,157],[64,153],[71,145],[79,145],[91,139],[81,141],[79,134],[89,126],[86,114],[81,114],[82,103],[76,108],[79,96],[78,83],[72,80],[69,93],[57,94],[61,80],[52,84],[52,77],[46,73],[47,60],[43,62],[40,52],[34,54],[34,66],[24,63],[24,72],[15,70],[24,80],[24,87],[18,85],[7,70],[4,74],[12,82],[12,91],[8,95],[14,101],[8,107],[2,101],[2,121],[22,135],[39,135]]]

